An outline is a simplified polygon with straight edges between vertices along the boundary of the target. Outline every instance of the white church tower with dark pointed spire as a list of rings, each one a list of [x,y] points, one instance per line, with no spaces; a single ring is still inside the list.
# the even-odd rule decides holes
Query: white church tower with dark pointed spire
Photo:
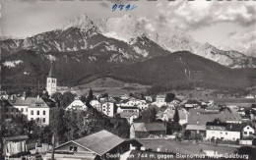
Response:
[[[50,72],[46,81],[46,90],[50,96],[57,91],[57,79],[53,74],[53,65],[51,64]]]

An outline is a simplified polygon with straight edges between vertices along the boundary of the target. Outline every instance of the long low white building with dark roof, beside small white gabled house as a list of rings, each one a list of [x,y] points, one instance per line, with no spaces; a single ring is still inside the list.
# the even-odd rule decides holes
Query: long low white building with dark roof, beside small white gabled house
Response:
[[[241,138],[242,131],[241,124],[227,124],[221,121],[208,122],[206,124],[206,138],[207,139],[222,139],[235,141]]]

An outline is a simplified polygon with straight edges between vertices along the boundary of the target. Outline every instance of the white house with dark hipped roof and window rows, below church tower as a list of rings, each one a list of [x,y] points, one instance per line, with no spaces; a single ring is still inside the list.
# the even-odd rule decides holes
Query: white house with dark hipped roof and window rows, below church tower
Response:
[[[37,97],[28,107],[28,120],[35,121],[38,125],[49,125],[55,111],[56,105],[53,100]]]

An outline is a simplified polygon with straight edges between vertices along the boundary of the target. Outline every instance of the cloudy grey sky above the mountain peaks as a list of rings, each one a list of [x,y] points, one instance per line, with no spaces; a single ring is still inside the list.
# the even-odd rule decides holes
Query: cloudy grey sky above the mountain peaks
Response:
[[[28,37],[62,28],[86,13],[91,19],[147,19],[146,27],[161,34],[184,32],[216,46],[256,43],[256,1],[86,1],[0,0],[2,36]],[[112,11],[114,4],[135,5],[132,11]]]

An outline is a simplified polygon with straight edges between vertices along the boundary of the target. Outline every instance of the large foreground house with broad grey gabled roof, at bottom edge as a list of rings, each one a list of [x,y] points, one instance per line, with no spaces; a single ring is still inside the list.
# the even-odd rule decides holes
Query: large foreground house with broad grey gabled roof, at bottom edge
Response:
[[[55,147],[56,160],[94,160],[106,159],[107,155],[122,154],[128,151],[130,144],[125,139],[105,130],[67,141]],[[43,160],[51,159],[51,153],[42,155]]]

